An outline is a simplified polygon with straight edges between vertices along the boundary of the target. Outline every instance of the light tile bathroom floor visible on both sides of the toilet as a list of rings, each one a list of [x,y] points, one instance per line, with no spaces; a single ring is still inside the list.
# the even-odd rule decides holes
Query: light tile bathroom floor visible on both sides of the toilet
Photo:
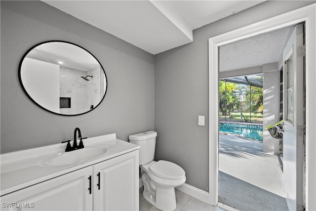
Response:
[[[139,210],[140,211],[160,211],[152,204],[147,202],[143,197],[144,187],[139,189]],[[208,205],[196,198],[189,196],[179,190],[176,191],[177,208],[175,211],[224,211],[219,207]]]

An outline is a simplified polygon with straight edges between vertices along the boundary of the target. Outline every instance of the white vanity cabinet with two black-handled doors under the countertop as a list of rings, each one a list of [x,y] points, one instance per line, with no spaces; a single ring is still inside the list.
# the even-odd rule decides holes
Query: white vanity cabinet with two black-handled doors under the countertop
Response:
[[[131,151],[6,194],[1,211],[138,210],[138,159]]]

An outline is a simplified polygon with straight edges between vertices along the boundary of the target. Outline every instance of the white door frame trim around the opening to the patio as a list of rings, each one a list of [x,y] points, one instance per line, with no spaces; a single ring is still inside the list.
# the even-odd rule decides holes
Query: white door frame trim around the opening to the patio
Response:
[[[306,41],[306,210],[316,210],[316,3],[210,38],[209,204],[218,202],[218,47],[305,21]]]

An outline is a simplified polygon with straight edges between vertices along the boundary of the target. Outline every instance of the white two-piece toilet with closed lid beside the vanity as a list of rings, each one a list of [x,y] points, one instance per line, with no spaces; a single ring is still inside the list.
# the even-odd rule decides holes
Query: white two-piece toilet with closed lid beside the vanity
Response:
[[[185,171],[168,161],[154,161],[157,132],[147,131],[129,135],[129,142],[140,146],[139,165],[142,169],[144,198],[163,211],[177,207],[174,188],[186,181]]]

